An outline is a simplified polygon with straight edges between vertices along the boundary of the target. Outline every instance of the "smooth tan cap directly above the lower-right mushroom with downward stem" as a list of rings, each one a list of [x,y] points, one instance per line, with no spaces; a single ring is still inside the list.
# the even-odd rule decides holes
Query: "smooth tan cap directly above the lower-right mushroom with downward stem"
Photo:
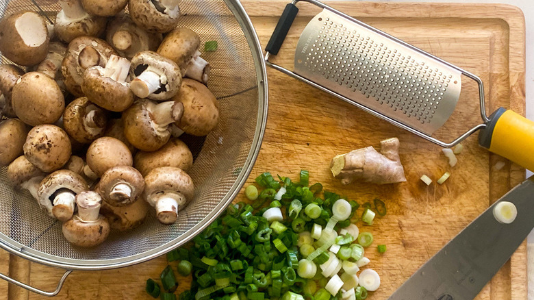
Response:
[[[175,166],[187,172],[193,165],[193,155],[185,142],[171,138],[157,151],[136,153],[133,165],[143,176],[160,166]]]

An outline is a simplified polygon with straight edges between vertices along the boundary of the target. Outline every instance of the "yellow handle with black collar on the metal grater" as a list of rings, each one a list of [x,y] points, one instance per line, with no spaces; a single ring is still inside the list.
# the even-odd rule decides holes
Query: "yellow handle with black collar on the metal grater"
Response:
[[[499,108],[489,116],[479,144],[534,171],[534,122],[512,110]]]

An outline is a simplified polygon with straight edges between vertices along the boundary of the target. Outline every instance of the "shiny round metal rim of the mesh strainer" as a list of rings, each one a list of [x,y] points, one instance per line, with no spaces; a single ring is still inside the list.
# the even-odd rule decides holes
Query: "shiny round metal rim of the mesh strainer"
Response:
[[[200,223],[194,225],[187,232],[184,232],[179,238],[167,242],[160,247],[151,249],[143,253],[138,253],[136,255],[130,255],[125,258],[113,258],[107,260],[74,260],[69,258],[59,258],[55,255],[49,255],[43,253],[42,251],[36,251],[22,245],[19,242],[16,242],[6,236],[5,234],[0,233],[0,248],[8,251],[14,255],[18,255],[32,262],[37,262],[47,266],[53,266],[57,268],[64,268],[68,270],[84,270],[84,271],[96,271],[96,270],[107,270],[112,268],[122,268],[125,266],[131,266],[133,264],[139,264],[141,262],[146,262],[156,258],[157,256],[163,255],[168,251],[176,249],[181,245],[184,245],[186,242],[190,241],[196,234],[205,229],[212,221],[214,221],[220,214],[223,213],[224,209],[233,201],[233,199],[240,192],[240,188],[246,182],[246,179],[249,177],[254,163],[257,159],[259,149],[262,146],[262,140],[265,133],[266,123],[267,123],[267,112],[268,112],[268,84],[267,84],[267,69],[266,64],[263,59],[262,47],[259,44],[259,38],[255,32],[255,29],[252,25],[251,19],[246,14],[242,4],[238,0],[224,0],[227,7],[234,16],[239,25],[242,27],[246,41],[249,43],[251,48],[251,55],[256,68],[256,77],[257,88],[258,88],[258,114],[256,121],[255,134],[249,151],[249,155],[246,158],[244,167],[238,175],[236,182],[230,188],[227,195],[221,199],[220,203],[216,205],[214,210],[210,212]]]

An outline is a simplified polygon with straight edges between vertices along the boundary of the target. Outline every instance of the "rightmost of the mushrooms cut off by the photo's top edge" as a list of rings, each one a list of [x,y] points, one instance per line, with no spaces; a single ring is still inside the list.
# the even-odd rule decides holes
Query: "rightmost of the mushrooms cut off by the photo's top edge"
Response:
[[[179,0],[129,0],[131,19],[149,32],[164,34],[178,24]]]

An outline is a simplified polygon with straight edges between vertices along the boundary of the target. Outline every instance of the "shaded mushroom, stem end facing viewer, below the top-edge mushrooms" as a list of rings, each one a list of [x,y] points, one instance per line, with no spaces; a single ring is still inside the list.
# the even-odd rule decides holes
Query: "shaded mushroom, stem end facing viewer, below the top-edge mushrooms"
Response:
[[[162,34],[149,33],[131,21],[129,14],[118,14],[107,25],[108,43],[125,58],[131,59],[141,51],[156,51],[163,40]]]

